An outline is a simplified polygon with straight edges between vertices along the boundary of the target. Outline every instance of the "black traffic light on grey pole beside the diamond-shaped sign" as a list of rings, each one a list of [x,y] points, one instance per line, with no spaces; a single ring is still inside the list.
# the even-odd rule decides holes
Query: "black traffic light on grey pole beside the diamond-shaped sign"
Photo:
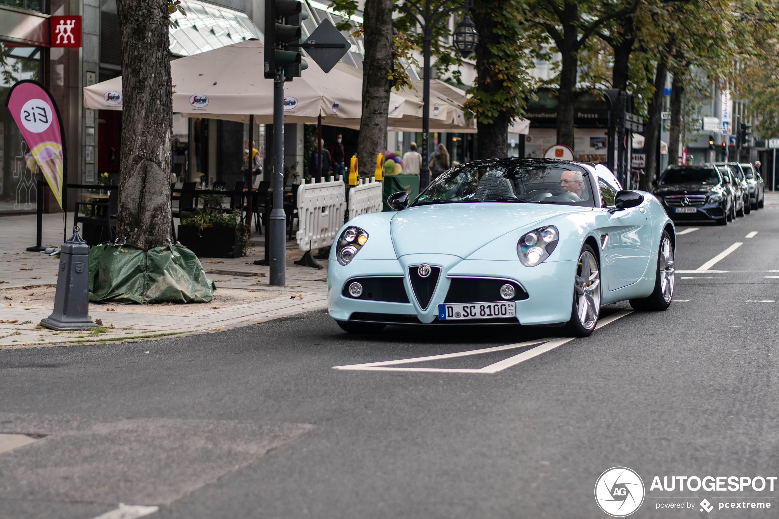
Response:
[[[265,67],[266,79],[276,79],[284,68],[300,65],[300,52],[285,51],[284,44],[299,42],[303,5],[298,0],[265,0]],[[286,25],[286,19],[298,25]]]

